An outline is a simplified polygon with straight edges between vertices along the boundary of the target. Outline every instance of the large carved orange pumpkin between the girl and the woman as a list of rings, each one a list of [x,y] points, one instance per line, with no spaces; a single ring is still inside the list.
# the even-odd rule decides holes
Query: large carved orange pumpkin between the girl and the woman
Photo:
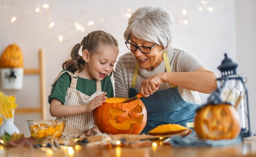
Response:
[[[144,103],[136,99],[122,103],[126,98],[108,98],[93,111],[96,126],[109,134],[139,134],[146,126],[147,111]]]

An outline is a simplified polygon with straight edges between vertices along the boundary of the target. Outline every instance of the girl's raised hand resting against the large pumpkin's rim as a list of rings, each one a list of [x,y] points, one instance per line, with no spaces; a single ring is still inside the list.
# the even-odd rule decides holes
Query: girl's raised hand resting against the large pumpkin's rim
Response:
[[[104,103],[107,99],[106,92],[96,96],[94,99],[92,99],[89,103],[85,104],[85,113],[92,112],[95,108],[99,107]]]

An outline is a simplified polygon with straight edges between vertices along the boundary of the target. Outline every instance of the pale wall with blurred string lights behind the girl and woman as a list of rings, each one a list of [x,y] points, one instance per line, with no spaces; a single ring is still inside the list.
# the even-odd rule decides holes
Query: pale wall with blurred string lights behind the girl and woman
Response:
[[[255,0],[0,0],[0,55],[16,43],[22,50],[24,68],[38,68],[39,49],[45,52],[45,106],[51,84],[62,70],[72,47],[94,30],[112,34],[119,42],[119,56],[128,51],[123,33],[130,14],[141,6],[163,6],[175,20],[174,47],[187,49],[206,67],[221,76],[217,67],[224,53],[239,64],[247,77],[249,113],[256,132],[256,1]],[[24,75],[21,90],[0,91],[16,96],[17,108],[40,106],[38,75]],[[200,93],[202,103],[208,94]],[[40,113],[15,114],[14,123],[29,136],[26,120]]]

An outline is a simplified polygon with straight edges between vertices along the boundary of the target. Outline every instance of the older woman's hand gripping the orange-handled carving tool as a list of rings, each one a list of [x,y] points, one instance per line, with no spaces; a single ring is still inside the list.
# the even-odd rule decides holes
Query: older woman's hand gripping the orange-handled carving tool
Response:
[[[156,92],[159,88],[159,85],[163,83],[161,74],[155,74],[154,76],[145,79],[141,82],[139,92],[144,96],[148,97],[149,95]]]

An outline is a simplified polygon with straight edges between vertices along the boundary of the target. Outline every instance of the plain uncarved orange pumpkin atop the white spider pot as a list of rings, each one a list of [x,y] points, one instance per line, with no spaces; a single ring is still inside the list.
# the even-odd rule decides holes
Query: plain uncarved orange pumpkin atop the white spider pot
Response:
[[[9,45],[0,58],[0,67],[23,67],[23,56],[18,45]]]

